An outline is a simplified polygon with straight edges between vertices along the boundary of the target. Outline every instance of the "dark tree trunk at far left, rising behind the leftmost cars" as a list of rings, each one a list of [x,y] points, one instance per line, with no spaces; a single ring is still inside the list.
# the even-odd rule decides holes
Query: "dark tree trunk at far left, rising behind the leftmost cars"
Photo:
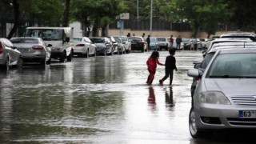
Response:
[[[10,30],[10,33],[7,36],[8,39],[12,38],[18,29],[19,5],[17,0],[13,0],[13,6],[14,6],[14,27]]]

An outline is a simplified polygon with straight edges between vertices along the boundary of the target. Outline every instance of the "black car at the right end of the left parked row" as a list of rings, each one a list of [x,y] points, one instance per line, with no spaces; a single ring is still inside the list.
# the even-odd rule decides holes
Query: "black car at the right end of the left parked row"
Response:
[[[131,43],[131,50],[141,50],[142,53],[147,51],[147,42],[142,37],[133,36],[128,39]]]

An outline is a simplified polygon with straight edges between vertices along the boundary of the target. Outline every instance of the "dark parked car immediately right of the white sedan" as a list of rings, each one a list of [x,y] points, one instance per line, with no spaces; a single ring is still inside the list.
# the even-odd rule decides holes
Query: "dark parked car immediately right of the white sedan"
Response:
[[[113,55],[113,45],[110,42],[109,38],[106,37],[91,37],[90,41],[93,42],[96,46],[96,52],[97,54],[102,55]]]

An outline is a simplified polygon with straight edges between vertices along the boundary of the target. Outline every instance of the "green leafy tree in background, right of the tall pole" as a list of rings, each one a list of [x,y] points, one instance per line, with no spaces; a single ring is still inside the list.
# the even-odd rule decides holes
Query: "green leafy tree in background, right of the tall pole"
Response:
[[[224,0],[173,0],[174,14],[180,19],[190,23],[193,36],[196,37],[202,28],[210,34],[217,30],[218,22],[227,22],[232,15],[232,10],[228,9],[228,3]]]

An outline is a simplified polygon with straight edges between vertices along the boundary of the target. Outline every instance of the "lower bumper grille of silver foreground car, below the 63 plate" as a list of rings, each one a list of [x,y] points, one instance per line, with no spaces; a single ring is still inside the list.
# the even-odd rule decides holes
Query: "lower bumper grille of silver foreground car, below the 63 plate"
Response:
[[[256,126],[256,118],[226,118],[230,125]]]

